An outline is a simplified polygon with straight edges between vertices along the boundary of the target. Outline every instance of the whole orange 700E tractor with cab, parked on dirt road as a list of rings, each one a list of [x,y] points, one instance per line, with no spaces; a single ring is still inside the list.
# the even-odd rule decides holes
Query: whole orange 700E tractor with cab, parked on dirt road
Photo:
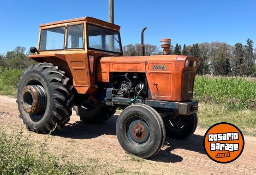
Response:
[[[167,55],[123,56],[120,26],[92,17],[40,25],[36,64],[18,83],[18,110],[27,129],[60,130],[72,108],[86,123],[109,119],[123,109],[116,134],[126,152],[154,156],[165,136],[185,139],[197,126],[198,102],[192,101],[197,59]]]

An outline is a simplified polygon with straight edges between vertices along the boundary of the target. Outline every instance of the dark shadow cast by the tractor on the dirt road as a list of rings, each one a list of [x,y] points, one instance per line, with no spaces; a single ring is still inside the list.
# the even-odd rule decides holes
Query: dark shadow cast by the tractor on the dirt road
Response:
[[[91,139],[101,135],[116,135],[115,127],[118,115],[113,115],[111,119],[102,124],[86,124],[81,121],[67,124],[63,129],[53,135],[71,139]],[[183,158],[173,154],[172,151],[184,149],[200,154],[205,154],[203,149],[203,136],[193,134],[185,140],[176,140],[166,137],[164,147],[153,158],[152,161],[175,163],[182,162]]]

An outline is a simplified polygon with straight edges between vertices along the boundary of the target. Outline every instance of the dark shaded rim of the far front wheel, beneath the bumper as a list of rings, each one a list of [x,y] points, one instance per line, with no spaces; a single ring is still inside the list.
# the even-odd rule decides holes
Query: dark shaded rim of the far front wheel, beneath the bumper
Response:
[[[173,131],[182,131],[187,124],[187,118],[184,116],[167,117],[167,127]]]

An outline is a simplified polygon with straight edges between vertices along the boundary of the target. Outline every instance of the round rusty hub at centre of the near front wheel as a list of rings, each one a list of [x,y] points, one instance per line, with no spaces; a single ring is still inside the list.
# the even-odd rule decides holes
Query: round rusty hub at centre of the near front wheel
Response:
[[[149,139],[149,126],[141,120],[135,120],[129,125],[127,134],[132,141],[143,144]]]

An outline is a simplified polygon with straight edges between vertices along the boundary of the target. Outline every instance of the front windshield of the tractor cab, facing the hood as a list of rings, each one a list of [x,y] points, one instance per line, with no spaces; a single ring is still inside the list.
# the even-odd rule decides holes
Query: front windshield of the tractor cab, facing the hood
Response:
[[[119,32],[88,24],[87,35],[90,49],[122,53]]]

